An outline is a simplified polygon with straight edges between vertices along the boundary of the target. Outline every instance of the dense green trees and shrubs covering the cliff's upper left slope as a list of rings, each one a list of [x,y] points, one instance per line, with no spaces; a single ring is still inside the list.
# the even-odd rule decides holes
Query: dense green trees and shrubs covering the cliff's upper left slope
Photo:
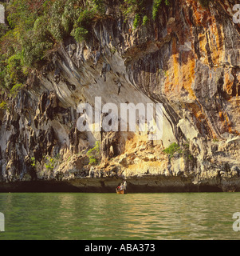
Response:
[[[13,96],[30,71],[41,67],[65,38],[73,37],[77,42],[90,39],[92,25],[106,16],[110,3],[108,0],[2,2],[6,24],[0,26],[0,94],[7,92],[7,96]],[[169,5],[170,1],[119,0],[115,4],[120,6],[124,18],[135,17],[136,28],[155,20],[160,6]]]

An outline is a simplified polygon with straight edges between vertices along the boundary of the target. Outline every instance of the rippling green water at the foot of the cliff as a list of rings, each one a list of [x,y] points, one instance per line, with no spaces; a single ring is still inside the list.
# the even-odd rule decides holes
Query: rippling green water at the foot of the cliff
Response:
[[[0,239],[239,239],[239,193],[0,194]]]

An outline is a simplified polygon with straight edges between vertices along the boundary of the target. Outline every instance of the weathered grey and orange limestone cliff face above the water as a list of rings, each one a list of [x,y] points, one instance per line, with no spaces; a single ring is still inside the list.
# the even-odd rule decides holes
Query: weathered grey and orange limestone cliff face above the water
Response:
[[[90,42],[65,40],[32,71],[10,109],[0,110],[2,187],[41,180],[114,191],[127,178],[132,192],[239,191],[240,26],[233,6],[172,1],[155,22],[133,29],[133,18],[124,22],[113,5]],[[77,106],[94,107],[96,97],[102,105],[162,103],[163,138],[80,132]],[[86,153],[96,140],[101,159],[91,166]],[[179,147],[164,153],[173,143]]]

